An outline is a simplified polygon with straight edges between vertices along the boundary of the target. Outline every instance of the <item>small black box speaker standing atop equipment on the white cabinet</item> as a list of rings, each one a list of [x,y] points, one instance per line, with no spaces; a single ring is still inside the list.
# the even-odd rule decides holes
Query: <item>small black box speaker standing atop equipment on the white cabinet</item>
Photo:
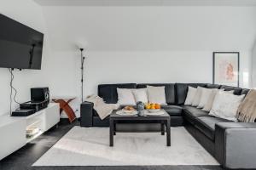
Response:
[[[31,88],[32,101],[49,100],[49,88]]]

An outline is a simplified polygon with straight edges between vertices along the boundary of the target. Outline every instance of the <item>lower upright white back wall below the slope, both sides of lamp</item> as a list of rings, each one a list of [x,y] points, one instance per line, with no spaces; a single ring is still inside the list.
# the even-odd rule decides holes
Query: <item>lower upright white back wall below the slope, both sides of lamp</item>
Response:
[[[80,97],[79,51],[54,52],[53,56],[45,72],[50,75],[51,94]],[[89,52],[85,56],[84,96],[96,94],[100,83],[212,82],[212,51]],[[251,53],[241,52],[240,85],[245,88],[250,59]],[[74,108],[79,109],[78,105]]]

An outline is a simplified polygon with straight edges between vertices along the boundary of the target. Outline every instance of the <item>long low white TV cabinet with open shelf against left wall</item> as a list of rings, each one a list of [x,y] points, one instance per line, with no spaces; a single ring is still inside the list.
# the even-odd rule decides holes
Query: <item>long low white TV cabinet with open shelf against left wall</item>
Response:
[[[31,116],[0,116],[0,160],[19,150],[58,122],[60,122],[60,106],[55,103],[50,103],[47,108]],[[38,127],[39,133],[26,138],[26,128],[31,126]]]

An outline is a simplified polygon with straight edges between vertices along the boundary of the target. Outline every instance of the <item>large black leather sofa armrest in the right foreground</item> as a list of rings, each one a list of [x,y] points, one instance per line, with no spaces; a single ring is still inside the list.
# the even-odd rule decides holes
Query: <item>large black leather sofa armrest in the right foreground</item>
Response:
[[[215,158],[224,168],[256,168],[256,123],[215,125]]]

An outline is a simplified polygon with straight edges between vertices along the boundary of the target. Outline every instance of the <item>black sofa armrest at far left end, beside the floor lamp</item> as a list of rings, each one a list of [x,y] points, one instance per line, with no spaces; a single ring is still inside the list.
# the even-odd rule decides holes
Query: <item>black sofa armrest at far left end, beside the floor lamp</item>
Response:
[[[93,103],[84,101],[80,106],[80,126],[92,127],[93,126]]]

